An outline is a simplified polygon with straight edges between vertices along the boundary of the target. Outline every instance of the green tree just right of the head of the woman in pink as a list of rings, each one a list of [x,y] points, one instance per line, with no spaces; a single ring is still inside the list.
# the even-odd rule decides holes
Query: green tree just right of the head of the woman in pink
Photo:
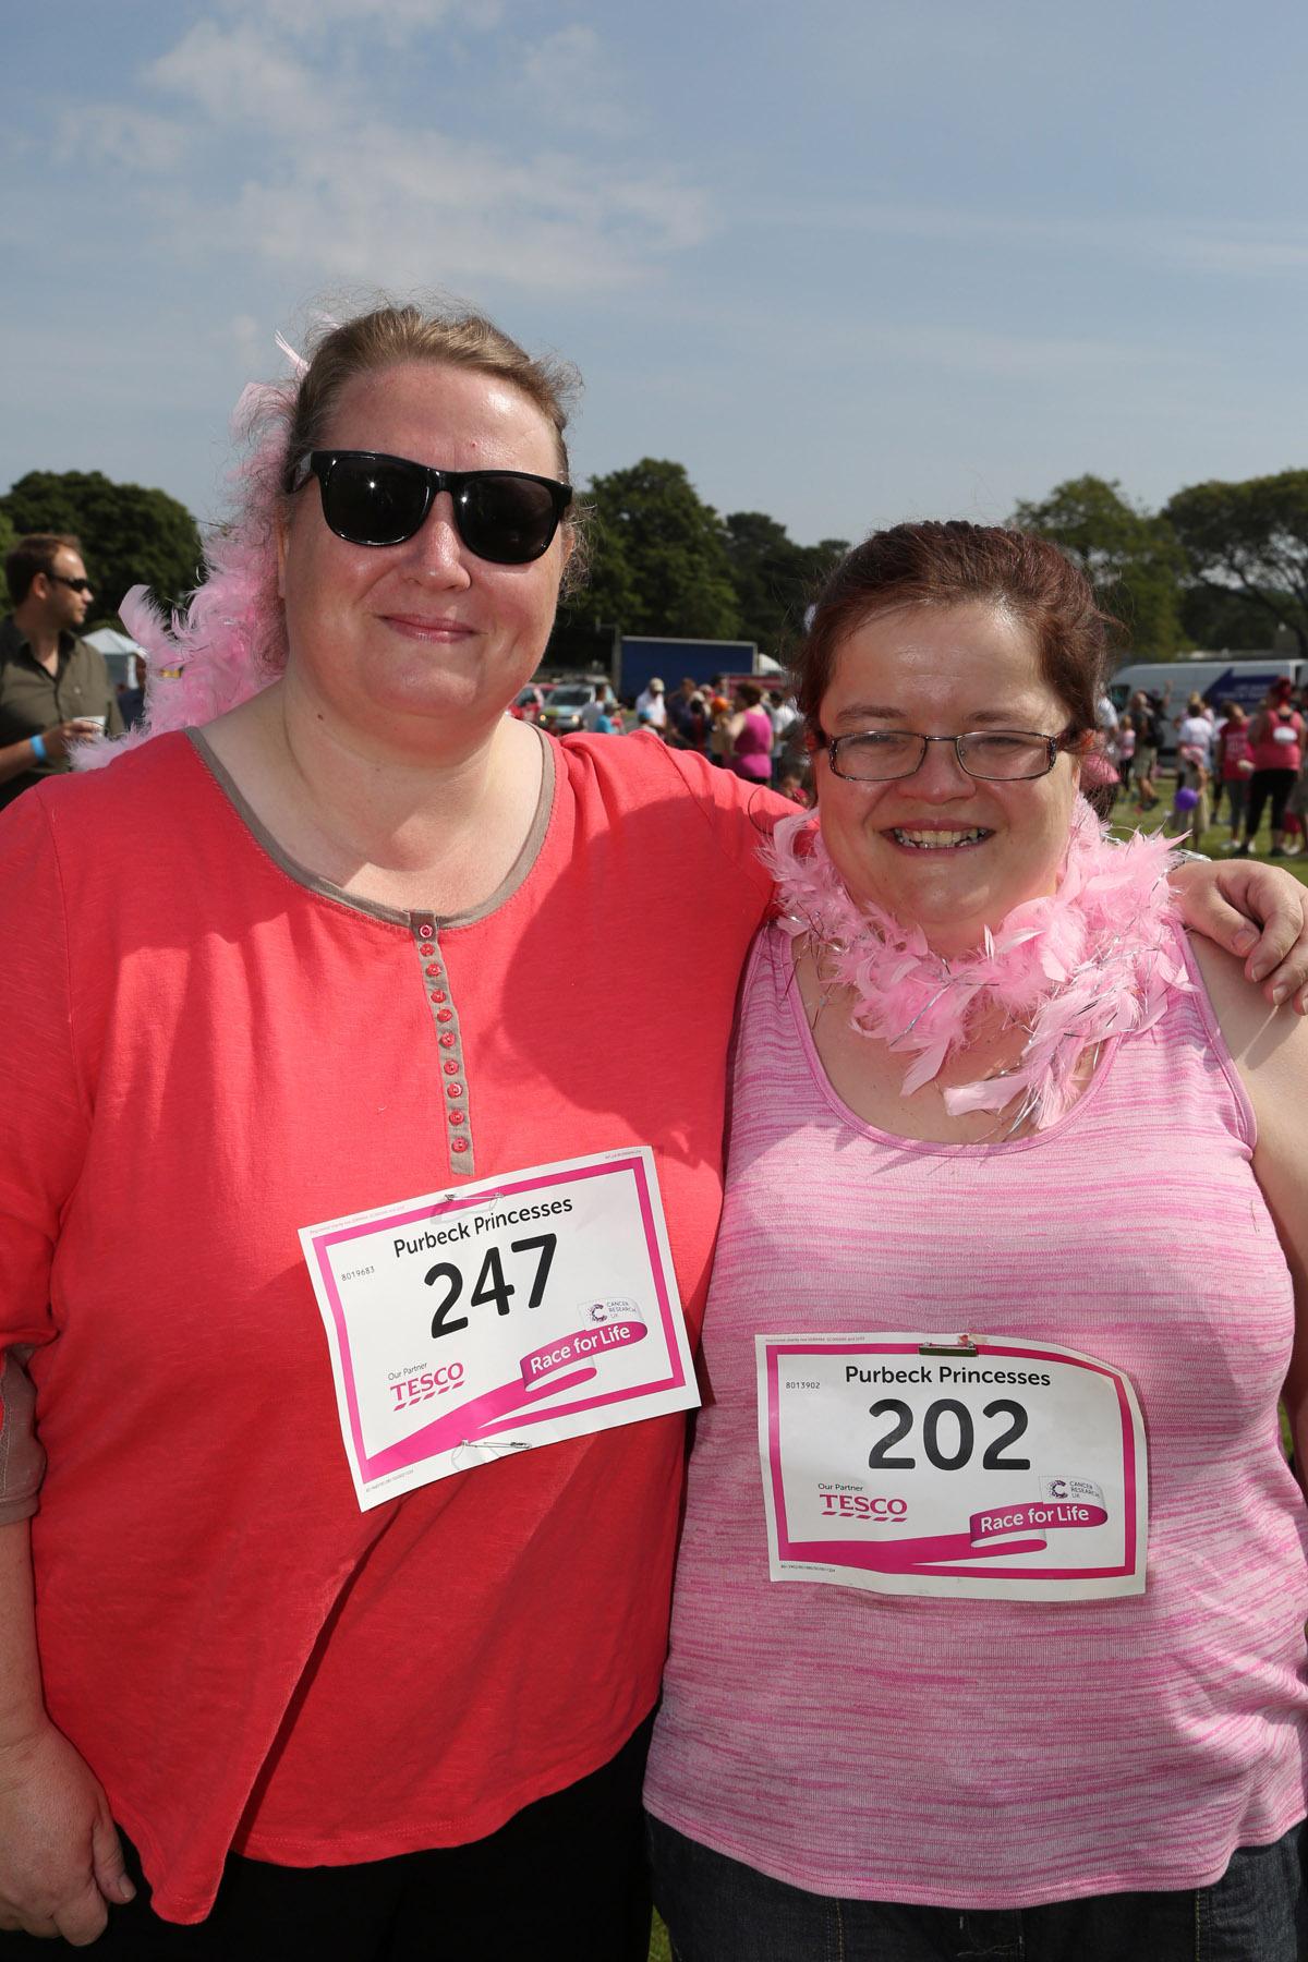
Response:
[[[1039,504],[1018,504],[1012,524],[1051,540],[1082,569],[1104,612],[1137,653],[1171,659],[1181,624],[1184,555],[1167,516],[1149,516],[1104,477],[1073,477]]]

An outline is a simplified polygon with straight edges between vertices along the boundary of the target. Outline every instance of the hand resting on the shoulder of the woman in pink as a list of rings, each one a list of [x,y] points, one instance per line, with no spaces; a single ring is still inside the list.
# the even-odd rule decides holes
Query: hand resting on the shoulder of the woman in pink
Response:
[[[1186,859],[1171,887],[1192,934],[1235,954],[1269,1003],[1308,1014],[1308,891],[1298,879],[1257,859]]]

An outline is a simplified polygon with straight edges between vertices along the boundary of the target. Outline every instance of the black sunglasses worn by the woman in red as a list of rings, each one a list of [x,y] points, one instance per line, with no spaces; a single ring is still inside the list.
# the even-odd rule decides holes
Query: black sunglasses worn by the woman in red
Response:
[[[375,449],[314,449],[290,489],[300,490],[310,477],[322,487],[324,518],[349,545],[402,545],[422,530],[441,490],[449,490],[455,532],[492,565],[539,559],[573,502],[573,487],[553,477],[433,471]]]

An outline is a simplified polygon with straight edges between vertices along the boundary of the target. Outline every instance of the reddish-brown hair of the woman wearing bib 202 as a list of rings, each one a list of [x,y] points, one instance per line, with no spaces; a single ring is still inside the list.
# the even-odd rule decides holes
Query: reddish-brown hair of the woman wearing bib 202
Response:
[[[1028,626],[1041,673],[1067,708],[1067,738],[1094,730],[1116,622],[1096,606],[1090,581],[1043,538],[951,518],[873,532],[828,575],[794,661],[794,697],[810,736],[818,736],[835,655],[851,634],[900,606],[977,602]]]

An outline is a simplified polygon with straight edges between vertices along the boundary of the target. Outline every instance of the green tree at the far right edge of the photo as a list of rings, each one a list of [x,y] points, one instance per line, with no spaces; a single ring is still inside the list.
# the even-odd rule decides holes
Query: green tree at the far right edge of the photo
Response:
[[[1308,471],[1190,485],[1163,516],[1198,587],[1239,594],[1269,628],[1290,628],[1308,655]]]

